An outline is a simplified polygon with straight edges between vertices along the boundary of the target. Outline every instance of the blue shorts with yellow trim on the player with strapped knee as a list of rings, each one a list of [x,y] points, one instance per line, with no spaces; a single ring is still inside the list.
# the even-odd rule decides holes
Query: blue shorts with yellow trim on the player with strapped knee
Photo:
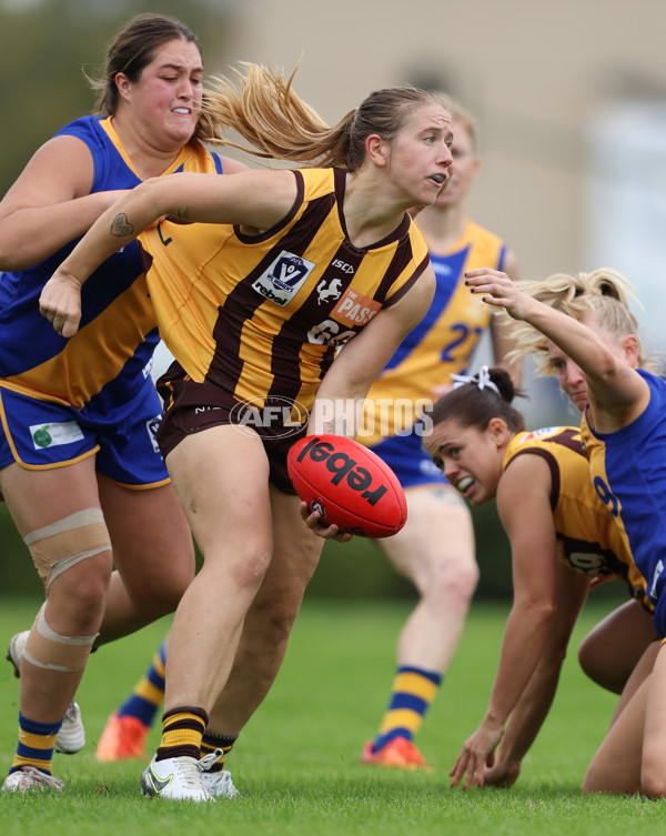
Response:
[[[157,442],[162,403],[152,381],[118,409],[104,393],[75,410],[0,389],[0,467],[51,470],[95,455],[98,473],[128,487],[157,487],[169,473]]]

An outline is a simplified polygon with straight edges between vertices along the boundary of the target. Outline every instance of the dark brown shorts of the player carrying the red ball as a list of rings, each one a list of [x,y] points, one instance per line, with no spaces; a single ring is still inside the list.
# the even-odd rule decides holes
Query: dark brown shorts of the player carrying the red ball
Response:
[[[171,381],[172,387],[165,391],[162,389],[163,381],[164,377],[161,377],[158,389],[168,409],[158,430],[158,443],[164,457],[192,433],[228,424],[239,425],[240,431],[249,426],[259,434],[263,443],[271,483],[283,493],[296,493],[286,471],[286,455],[292,444],[305,435],[307,424],[289,425],[276,417],[282,412],[282,399],[274,399],[272,411],[271,399],[268,399],[263,415],[260,415],[219,386],[193,381]]]

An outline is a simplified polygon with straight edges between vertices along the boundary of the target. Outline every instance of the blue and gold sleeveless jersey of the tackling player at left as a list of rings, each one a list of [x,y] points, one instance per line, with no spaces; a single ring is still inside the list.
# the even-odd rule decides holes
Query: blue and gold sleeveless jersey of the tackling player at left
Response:
[[[131,189],[141,182],[111,118],[83,117],[56,135],[77,137],[94,162],[91,192]],[[198,141],[181,150],[164,171],[222,173],[218,154]],[[141,252],[133,242],[113,254],[84,283],[79,332],[57,334],[39,312],[46,281],[78,239],[36,266],[0,274],[0,393],[12,390],[41,401],[74,406],[102,419],[130,403],[150,372],[158,343]],[[130,407],[131,409],[131,407]]]

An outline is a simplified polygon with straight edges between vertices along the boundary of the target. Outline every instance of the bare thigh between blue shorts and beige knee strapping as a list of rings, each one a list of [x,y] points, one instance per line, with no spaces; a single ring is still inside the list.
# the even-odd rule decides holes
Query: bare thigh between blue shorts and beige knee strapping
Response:
[[[0,471],[0,490],[21,536],[100,506],[94,455],[47,470],[10,464]]]

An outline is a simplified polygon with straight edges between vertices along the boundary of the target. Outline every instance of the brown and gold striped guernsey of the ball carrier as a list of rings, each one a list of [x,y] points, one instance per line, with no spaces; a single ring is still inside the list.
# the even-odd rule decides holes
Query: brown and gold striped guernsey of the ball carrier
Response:
[[[167,221],[140,236],[160,332],[182,367],[169,373],[181,404],[215,405],[219,390],[224,403],[284,397],[310,409],[340,346],[428,263],[407,214],[372,246],[350,242],[344,171],[293,173],[292,210],[261,235]]]

